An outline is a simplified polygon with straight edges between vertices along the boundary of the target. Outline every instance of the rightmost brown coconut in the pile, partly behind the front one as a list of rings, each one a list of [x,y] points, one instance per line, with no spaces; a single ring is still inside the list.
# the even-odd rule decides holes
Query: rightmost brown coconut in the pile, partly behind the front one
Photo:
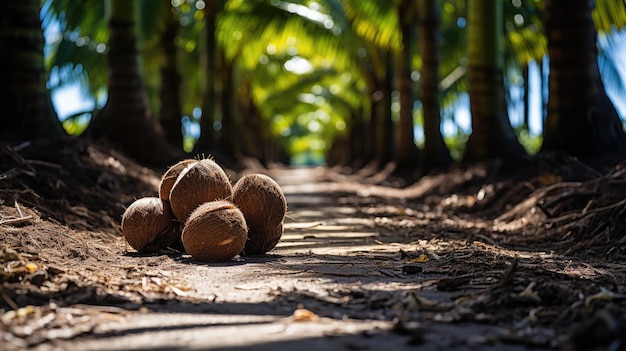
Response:
[[[283,233],[287,200],[276,181],[264,174],[249,174],[233,187],[233,203],[248,225],[244,253],[263,254],[273,249]]]

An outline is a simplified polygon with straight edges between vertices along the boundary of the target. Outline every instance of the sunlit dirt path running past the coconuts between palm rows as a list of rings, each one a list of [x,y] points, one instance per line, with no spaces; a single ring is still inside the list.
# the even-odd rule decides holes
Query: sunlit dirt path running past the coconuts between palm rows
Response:
[[[273,175],[287,194],[289,214],[282,241],[268,255],[207,264],[186,255],[119,251],[125,249],[118,242],[119,257],[100,262],[110,269],[89,262],[84,268],[104,276],[109,271],[109,282],[124,271],[135,272],[136,279],[126,276],[121,284],[143,288],[140,300],[116,306],[44,305],[31,312],[37,317],[31,324],[16,327],[31,330],[5,334],[5,345],[33,350],[525,349],[503,343],[507,328],[436,321],[436,303],[452,303],[453,296],[434,289],[435,279],[445,273],[403,273],[407,260],[401,253],[419,249],[419,240],[407,241],[409,227],[381,231],[377,217],[342,203],[346,198],[332,189],[321,191],[315,169]],[[165,287],[170,297],[154,286]],[[412,294],[433,305],[423,308],[427,318],[400,323],[401,309],[407,308],[403,299]],[[40,330],[32,325],[53,322],[46,319],[58,325]]]

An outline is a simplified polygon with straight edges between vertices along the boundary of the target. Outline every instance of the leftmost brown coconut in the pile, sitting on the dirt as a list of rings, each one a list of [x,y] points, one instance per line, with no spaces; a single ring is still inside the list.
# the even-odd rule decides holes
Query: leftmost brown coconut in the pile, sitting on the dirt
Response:
[[[167,202],[144,197],[133,202],[122,216],[122,234],[139,252],[154,252],[170,246],[180,237],[180,225]]]

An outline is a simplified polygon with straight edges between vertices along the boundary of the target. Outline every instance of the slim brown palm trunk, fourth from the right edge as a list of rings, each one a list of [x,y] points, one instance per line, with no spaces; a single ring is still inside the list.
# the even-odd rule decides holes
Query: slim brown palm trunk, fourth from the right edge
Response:
[[[397,88],[400,93],[400,118],[396,126],[397,171],[413,171],[419,168],[419,150],[415,145],[413,132],[413,103],[415,92],[411,80],[413,51],[413,31],[416,22],[416,7],[413,0],[403,0],[398,6],[400,29],[402,32],[402,52],[398,57]]]

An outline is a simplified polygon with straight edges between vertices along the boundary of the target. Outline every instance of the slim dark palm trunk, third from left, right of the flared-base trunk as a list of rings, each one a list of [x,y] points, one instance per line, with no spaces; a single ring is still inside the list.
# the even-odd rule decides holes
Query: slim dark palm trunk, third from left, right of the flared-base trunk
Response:
[[[171,11],[168,11],[165,28],[160,34],[164,62],[161,66],[161,86],[159,87],[159,100],[161,103],[159,122],[165,133],[165,139],[172,148],[182,150],[182,103],[180,99],[182,79],[178,73],[178,50],[175,44],[177,36],[178,21]]]

